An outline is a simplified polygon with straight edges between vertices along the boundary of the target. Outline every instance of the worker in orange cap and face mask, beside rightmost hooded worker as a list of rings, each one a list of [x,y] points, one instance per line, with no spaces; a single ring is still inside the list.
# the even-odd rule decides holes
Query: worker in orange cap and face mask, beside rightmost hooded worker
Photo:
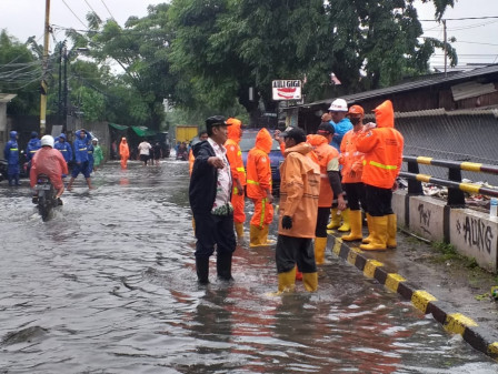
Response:
[[[342,186],[348,196],[349,223],[351,225],[351,232],[342,235],[341,239],[350,242],[362,239],[361,208],[365,210],[367,205],[365,202],[365,185],[361,182],[363,153],[359,152],[356,148],[358,138],[363,130],[363,108],[352,105],[349,108],[348,115],[352,123],[352,129],[342,138],[339,160],[342,165]],[[368,214],[367,222],[369,222]]]

